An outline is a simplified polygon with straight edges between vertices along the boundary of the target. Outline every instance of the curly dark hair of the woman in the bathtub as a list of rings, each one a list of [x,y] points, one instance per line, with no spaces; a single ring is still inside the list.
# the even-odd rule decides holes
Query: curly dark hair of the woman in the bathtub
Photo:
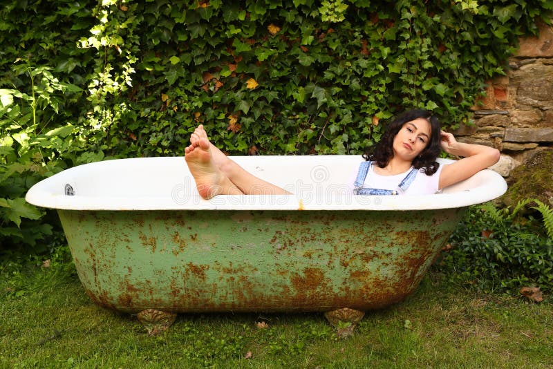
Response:
[[[436,162],[436,158],[440,155],[442,148],[440,146],[440,122],[438,118],[432,115],[430,111],[426,110],[411,110],[398,115],[387,127],[386,131],[382,135],[381,140],[371,146],[363,154],[365,160],[372,160],[380,168],[386,167],[391,158],[393,158],[393,139],[395,135],[402,129],[402,126],[406,122],[422,118],[427,120],[431,126],[430,140],[427,147],[422,150],[420,155],[413,159],[413,167],[416,169],[424,169],[424,173],[427,176],[432,176],[440,167],[440,164]]]

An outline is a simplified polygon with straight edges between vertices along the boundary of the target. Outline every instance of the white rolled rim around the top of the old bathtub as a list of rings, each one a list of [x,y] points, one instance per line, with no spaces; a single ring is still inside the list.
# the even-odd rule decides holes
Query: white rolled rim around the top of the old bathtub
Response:
[[[359,155],[318,155],[319,160],[324,157],[339,158],[340,156]],[[279,160],[282,155],[267,155],[263,158]],[[310,156],[310,158],[315,155]],[[236,159],[243,157],[231,157]],[[258,157],[259,158],[259,157]],[[286,156],[285,158],[290,158]],[[294,156],[292,158],[301,158]],[[220,195],[205,200],[200,198],[198,193],[191,194],[187,202],[182,202],[174,196],[143,196],[142,202],[137,203],[135,196],[67,196],[64,193],[55,193],[53,188],[59,189],[66,182],[67,178],[79,171],[96,167],[109,162],[122,162],[123,160],[183,160],[182,157],[156,157],[156,158],[128,158],[106,160],[82,164],[46,178],[38,182],[26,194],[26,201],[32,205],[50,209],[66,210],[112,210],[112,211],[133,211],[133,210],[429,210],[429,209],[451,209],[467,207],[478,203],[487,202],[498,198],[507,191],[507,183],[498,173],[490,169],[484,169],[473,177],[459,182],[456,185],[442,190],[442,193],[422,196],[346,196],[343,202],[329,203],[320,199],[310,199],[306,196],[268,196],[268,195]],[[439,158],[438,162],[446,164],[453,160]],[[183,163],[184,165],[184,163]],[[474,183],[471,189],[463,189],[468,183]]]

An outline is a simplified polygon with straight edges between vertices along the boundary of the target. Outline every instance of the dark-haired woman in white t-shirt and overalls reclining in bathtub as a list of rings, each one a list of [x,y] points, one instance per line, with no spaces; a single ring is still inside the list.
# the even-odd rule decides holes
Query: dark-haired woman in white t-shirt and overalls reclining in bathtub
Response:
[[[440,151],[462,157],[440,165]],[[438,118],[429,111],[413,110],[386,127],[378,144],[364,153],[353,183],[358,195],[422,195],[440,191],[465,180],[499,160],[499,151],[489,146],[457,142],[440,130]],[[257,178],[217,149],[200,125],[190,137],[185,160],[196,180],[200,196],[283,195],[281,187]],[[355,174],[355,173],[354,173]]]

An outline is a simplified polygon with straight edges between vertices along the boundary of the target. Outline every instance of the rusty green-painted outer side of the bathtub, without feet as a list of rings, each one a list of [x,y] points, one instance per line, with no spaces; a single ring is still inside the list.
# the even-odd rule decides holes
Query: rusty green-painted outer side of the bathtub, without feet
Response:
[[[131,313],[383,308],[462,212],[58,210],[87,294]]]

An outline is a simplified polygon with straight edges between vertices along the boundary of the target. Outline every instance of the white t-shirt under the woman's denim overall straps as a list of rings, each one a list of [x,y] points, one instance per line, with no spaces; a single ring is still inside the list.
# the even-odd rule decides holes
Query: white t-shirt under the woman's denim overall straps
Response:
[[[402,182],[405,176],[407,176],[409,171],[411,171],[411,169],[413,168],[411,167],[404,173],[395,174],[393,176],[382,176],[380,174],[375,173],[375,171],[373,170],[375,165],[376,165],[375,163],[371,164],[371,168],[368,170],[363,187],[368,187],[373,189],[396,190],[397,185],[399,185],[400,182]],[[432,193],[438,192],[440,173],[443,167],[444,167],[444,164],[440,164],[440,167],[438,167],[438,170],[432,176],[427,176],[424,173],[424,169],[422,168],[419,169],[417,171],[417,176],[415,177],[415,180],[411,182],[411,185],[409,185],[404,195],[430,195]],[[359,167],[357,167],[357,171],[358,170],[359,170]],[[357,172],[355,173],[353,180],[351,181],[352,188],[353,188],[353,182],[355,182],[356,178],[357,178]]]

